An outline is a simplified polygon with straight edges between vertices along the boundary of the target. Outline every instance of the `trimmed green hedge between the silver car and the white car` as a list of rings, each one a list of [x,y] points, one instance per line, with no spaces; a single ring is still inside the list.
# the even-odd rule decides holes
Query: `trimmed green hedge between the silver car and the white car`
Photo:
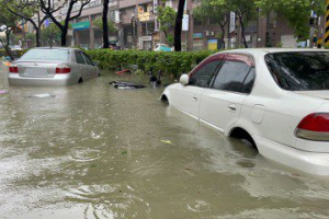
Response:
[[[93,49],[86,50],[93,60],[98,60],[100,68],[105,70],[121,70],[136,65],[138,69],[148,71],[162,70],[166,74],[174,77],[190,72],[193,67],[200,64],[214,51],[144,51],[144,50],[111,50]]]

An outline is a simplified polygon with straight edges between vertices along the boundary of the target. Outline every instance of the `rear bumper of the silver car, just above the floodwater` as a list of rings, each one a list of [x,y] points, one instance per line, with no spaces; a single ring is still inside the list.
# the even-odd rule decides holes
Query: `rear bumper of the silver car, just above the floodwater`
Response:
[[[8,82],[13,87],[60,87],[71,84],[70,74],[56,74],[54,78],[26,78],[9,73]]]

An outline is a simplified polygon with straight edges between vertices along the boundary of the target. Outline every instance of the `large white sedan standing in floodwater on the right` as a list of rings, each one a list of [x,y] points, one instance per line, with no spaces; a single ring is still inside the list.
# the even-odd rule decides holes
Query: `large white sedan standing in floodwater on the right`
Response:
[[[218,53],[161,99],[271,160],[329,175],[328,50]]]

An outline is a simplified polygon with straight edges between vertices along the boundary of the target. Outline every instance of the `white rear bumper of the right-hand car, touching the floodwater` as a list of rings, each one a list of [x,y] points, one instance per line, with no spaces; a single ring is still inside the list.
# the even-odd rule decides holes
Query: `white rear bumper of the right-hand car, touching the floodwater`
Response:
[[[260,136],[252,136],[260,154],[270,160],[316,175],[329,175],[329,153],[298,150]]]

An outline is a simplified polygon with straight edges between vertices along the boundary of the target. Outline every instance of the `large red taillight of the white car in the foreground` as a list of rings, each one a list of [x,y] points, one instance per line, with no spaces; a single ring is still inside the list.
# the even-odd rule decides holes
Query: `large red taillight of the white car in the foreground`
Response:
[[[307,140],[329,141],[329,113],[313,113],[303,118],[296,136]]]

